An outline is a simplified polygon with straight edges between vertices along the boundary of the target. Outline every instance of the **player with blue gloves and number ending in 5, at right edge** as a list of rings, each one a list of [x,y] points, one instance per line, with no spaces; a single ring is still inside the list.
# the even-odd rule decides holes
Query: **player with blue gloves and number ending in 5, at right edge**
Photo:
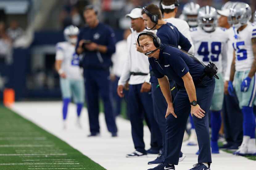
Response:
[[[253,104],[256,94],[256,27],[249,23],[251,8],[236,2],[230,8],[229,22],[233,26],[233,61],[230,70],[229,94],[236,91],[243,113],[243,141],[234,152],[237,155],[256,155],[255,116]]]

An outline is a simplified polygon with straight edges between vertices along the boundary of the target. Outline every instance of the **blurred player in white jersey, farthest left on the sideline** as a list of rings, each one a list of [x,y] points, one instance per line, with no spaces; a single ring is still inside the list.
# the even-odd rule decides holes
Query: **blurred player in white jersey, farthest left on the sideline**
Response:
[[[55,68],[60,75],[60,88],[63,99],[63,127],[66,128],[66,117],[68,104],[73,97],[77,105],[77,126],[81,128],[80,114],[84,105],[84,78],[79,67],[79,56],[76,54],[75,46],[79,29],[76,26],[68,26],[64,30],[66,41],[56,45]]]

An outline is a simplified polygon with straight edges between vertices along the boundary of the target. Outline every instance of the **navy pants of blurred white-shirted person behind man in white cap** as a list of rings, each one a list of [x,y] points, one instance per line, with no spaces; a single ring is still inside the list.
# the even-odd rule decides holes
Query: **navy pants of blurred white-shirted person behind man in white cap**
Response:
[[[118,80],[120,77],[115,76],[115,80],[111,81],[110,83],[110,88],[111,88],[111,95],[113,99],[113,104],[114,104],[114,115],[118,116],[121,113],[121,98],[117,94],[117,87],[118,87]]]

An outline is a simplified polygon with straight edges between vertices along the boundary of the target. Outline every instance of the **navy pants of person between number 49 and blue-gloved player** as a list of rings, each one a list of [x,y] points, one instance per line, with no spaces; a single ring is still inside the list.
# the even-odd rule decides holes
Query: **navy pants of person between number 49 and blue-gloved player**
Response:
[[[224,95],[222,114],[226,141],[230,145],[240,146],[243,140],[243,113],[236,96]]]

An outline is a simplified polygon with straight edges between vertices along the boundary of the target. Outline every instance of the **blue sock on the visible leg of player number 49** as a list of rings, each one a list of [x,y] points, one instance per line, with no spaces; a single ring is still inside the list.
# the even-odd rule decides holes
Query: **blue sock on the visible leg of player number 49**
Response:
[[[212,141],[217,142],[221,128],[221,111],[211,111]]]

